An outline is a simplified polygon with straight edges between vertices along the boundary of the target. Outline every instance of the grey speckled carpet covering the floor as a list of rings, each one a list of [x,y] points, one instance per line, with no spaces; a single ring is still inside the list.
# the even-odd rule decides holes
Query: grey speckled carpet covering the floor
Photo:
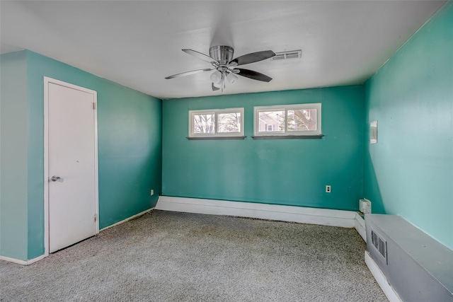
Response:
[[[353,228],[152,211],[28,267],[0,301],[387,301]]]

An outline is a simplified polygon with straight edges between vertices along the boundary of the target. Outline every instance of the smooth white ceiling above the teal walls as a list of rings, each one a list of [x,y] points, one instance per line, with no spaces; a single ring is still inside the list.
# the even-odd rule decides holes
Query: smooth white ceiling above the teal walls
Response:
[[[28,49],[157,98],[363,83],[445,1],[1,1],[1,53]],[[235,56],[302,49],[302,59],[243,66],[213,92],[210,64],[185,54],[213,45]]]

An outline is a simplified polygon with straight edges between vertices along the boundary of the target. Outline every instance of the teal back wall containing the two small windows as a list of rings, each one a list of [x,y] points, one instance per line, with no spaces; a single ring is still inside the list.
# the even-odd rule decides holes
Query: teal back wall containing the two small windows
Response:
[[[322,103],[323,139],[251,138],[253,106],[294,103]],[[186,139],[188,110],[237,107],[245,110],[246,139]],[[164,100],[162,194],[355,210],[363,112],[362,86]]]

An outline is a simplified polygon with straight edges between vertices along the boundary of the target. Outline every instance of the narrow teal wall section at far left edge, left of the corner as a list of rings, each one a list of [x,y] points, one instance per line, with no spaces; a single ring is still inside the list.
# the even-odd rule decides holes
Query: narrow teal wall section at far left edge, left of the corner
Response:
[[[0,56],[0,255],[27,260],[27,64]]]

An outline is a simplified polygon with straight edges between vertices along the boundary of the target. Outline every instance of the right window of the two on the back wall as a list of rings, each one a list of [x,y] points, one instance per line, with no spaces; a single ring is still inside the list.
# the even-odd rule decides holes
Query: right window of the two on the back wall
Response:
[[[255,137],[321,136],[321,103],[255,107]]]

